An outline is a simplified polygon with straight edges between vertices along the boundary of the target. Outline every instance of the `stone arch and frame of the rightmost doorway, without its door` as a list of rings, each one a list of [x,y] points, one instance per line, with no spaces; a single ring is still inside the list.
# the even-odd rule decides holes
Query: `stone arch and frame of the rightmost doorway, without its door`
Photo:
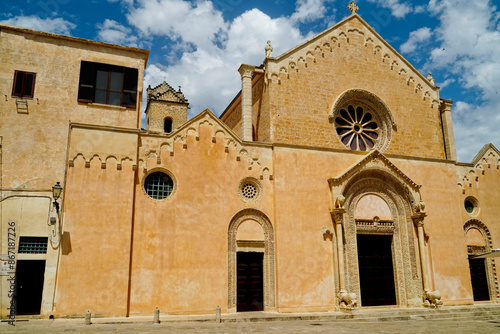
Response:
[[[470,237],[474,232],[480,233],[481,242],[474,242],[474,237]],[[491,251],[493,249],[493,242],[488,227],[478,219],[469,219],[464,224],[464,236],[467,244],[468,255],[478,255]],[[472,239],[472,240],[471,240]],[[498,276],[496,270],[495,259],[486,258],[485,268],[488,281],[488,290],[491,301],[500,300],[500,288],[498,285]]]

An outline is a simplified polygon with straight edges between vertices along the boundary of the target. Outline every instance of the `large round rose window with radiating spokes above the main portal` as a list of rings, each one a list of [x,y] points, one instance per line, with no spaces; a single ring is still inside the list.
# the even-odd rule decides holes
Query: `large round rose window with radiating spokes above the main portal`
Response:
[[[374,148],[380,135],[377,121],[360,106],[342,108],[335,117],[335,127],[342,143],[354,151]]]

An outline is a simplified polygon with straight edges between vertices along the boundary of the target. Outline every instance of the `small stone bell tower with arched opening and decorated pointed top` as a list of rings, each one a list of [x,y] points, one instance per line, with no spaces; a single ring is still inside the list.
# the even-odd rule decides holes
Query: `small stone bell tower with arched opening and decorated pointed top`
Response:
[[[188,101],[168,83],[147,88],[146,130],[170,133],[187,121]]]

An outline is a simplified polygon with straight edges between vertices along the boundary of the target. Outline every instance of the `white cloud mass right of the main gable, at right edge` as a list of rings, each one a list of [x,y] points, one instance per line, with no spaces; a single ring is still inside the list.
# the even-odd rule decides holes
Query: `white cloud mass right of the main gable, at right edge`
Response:
[[[488,0],[431,0],[429,10],[440,25],[426,66],[451,72],[479,92],[477,103],[457,101],[452,109],[459,159],[470,161],[487,142],[500,147],[499,12]]]

